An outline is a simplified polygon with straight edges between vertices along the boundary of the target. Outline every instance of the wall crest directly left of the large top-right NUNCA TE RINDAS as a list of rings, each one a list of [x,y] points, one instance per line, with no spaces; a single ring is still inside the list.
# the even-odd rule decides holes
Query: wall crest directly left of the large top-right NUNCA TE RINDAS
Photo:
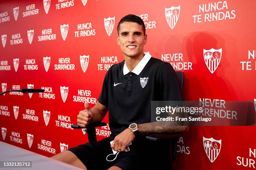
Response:
[[[170,26],[170,28],[174,28],[174,26],[177,24],[177,21],[179,19],[179,11],[180,11],[180,5],[177,7],[170,7],[165,8],[165,18]]]

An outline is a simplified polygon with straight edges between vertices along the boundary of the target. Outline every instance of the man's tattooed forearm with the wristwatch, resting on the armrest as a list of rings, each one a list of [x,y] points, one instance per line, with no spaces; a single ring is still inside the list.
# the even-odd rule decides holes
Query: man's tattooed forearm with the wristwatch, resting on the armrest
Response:
[[[138,125],[138,131],[142,135],[148,135],[152,133],[175,133],[184,132],[188,130],[188,126],[172,126],[164,121],[157,121],[151,123],[143,123]]]

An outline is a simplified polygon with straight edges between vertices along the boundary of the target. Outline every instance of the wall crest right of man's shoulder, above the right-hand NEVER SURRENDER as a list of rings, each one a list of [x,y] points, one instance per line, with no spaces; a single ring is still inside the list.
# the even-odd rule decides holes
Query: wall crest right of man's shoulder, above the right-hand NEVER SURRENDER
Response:
[[[210,50],[204,49],[205,64],[211,73],[215,72],[218,65],[220,64],[221,53],[222,48],[220,48],[219,50],[215,50],[213,48]]]

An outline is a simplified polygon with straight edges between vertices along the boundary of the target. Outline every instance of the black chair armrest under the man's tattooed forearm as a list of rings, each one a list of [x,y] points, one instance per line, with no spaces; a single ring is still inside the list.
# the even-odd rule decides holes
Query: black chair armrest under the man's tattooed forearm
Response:
[[[154,133],[151,135],[147,135],[146,139],[150,141],[160,141],[160,140],[171,140],[175,138],[179,138],[182,136],[182,133]]]

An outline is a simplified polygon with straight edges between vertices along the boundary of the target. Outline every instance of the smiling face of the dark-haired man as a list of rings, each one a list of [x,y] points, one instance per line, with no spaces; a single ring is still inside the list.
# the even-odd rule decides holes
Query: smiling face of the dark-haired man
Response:
[[[143,47],[147,42],[147,35],[144,35],[142,25],[133,22],[120,24],[118,45],[125,56],[138,57],[143,54]]]

